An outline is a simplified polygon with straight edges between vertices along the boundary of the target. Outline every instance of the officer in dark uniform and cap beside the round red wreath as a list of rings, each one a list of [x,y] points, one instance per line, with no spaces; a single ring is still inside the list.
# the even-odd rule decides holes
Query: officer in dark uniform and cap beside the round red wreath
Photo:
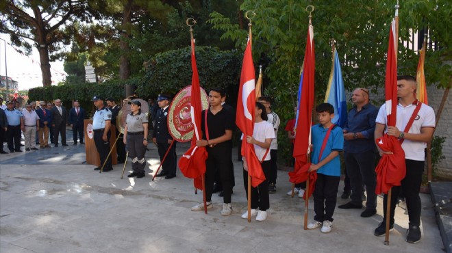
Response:
[[[157,110],[155,128],[152,134],[153,142],[157,144],[158,155],[160,155],[160,161],[166,154],[171,143],[175,142],[168,131],[168,109],[169,109],[168,95],[158,95],[157,103],[160,109]],[[176,144],[171,146],[171,150],[168,151],[168,155],[164,163],[162,164],[162,172],[157,176],[165,176],[166,179],[170,179],[176,176]]]

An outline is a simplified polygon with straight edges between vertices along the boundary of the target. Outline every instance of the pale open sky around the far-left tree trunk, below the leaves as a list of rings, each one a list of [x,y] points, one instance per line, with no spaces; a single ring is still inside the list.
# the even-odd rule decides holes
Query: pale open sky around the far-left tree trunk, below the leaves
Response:
[[[33,48],[32,55],[26,56],[18,53],[11,45],[8,35],[0,34],[0,38],[6,40],[6,64],[5,42],[0,40],[0,75],[5,75],[5,66],[8,68],[8,77],[18,81],[18,90],[42,87],[42,73],[39,62],[39,53]],[[63,62],[51,62],[52,85],[66,79]]]

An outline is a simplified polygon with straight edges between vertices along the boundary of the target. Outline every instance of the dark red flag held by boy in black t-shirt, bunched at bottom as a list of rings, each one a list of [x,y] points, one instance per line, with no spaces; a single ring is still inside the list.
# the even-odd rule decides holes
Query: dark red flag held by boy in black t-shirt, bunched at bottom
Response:
[[[194,55],[194,41],[191,40],[192,46],[192,85],[190,97],[190,114],[193,124],[193,138],[190,148],[179,159],[179,168],[188,178],[194,178],[194,187],[202,189],[201,176],[205,173],[205,160],[208,158],[208,152],[205,147],[196,146],[196,141],[201,138],[201,87],[199,85],[198,68],[196,65],[196,57]]]

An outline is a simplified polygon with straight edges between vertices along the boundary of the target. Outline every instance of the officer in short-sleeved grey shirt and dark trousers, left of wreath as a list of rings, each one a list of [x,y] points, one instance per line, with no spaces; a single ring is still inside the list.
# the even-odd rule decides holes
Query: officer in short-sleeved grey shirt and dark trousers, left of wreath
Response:
[[[146,114],[141,113],[141,102],[134,99],[129,102],[131,113],[127,114],[124,130],[124,144],[127,144],[132,159],[132,172],[129,178],[145,176],[145,152],[147,146],[148,120]]]

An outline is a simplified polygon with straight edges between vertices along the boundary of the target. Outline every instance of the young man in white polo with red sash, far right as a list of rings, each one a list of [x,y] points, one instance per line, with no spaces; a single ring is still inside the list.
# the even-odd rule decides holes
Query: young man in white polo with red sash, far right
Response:
[[[391,190],[391,207],[390,207],[390,231],[394,230],[394,209],[397,202],[399,192],[403,190],[405,196],[407,211],[410,224],[407,230],[406,241],[409,243],[417,243],[420,241],[420,204],[419,189],[422,181],[422,174],[425,163],[425,147],[426,143],[431,140],[435,129],[435,112],[434,109],[420,103],[416,99],[416,79],[412,76],[397,77],[397,96],[399,97],[399,105],[397,105],[397,123],[395,127],[388,127],[386,105],[382,105],[379,109],[376,126],[375,139],[381,137],[386,131],[388,135],[398,137],[402,143],[403,151],[405,151],[406,175],[401,181],[401,186],[392,187]],[[420,103],[420,104],[419,104]],[[413,115],[416,107],[420,106],[417,115]],[[413,124],[405,131],[410,118],[414,116]],[[391,154],[384,152],[378,146],[380,155]],[[383,222],[375,229],[376,236],[386,234],[386,213],[388,196],[384,196],[384,218]]]

